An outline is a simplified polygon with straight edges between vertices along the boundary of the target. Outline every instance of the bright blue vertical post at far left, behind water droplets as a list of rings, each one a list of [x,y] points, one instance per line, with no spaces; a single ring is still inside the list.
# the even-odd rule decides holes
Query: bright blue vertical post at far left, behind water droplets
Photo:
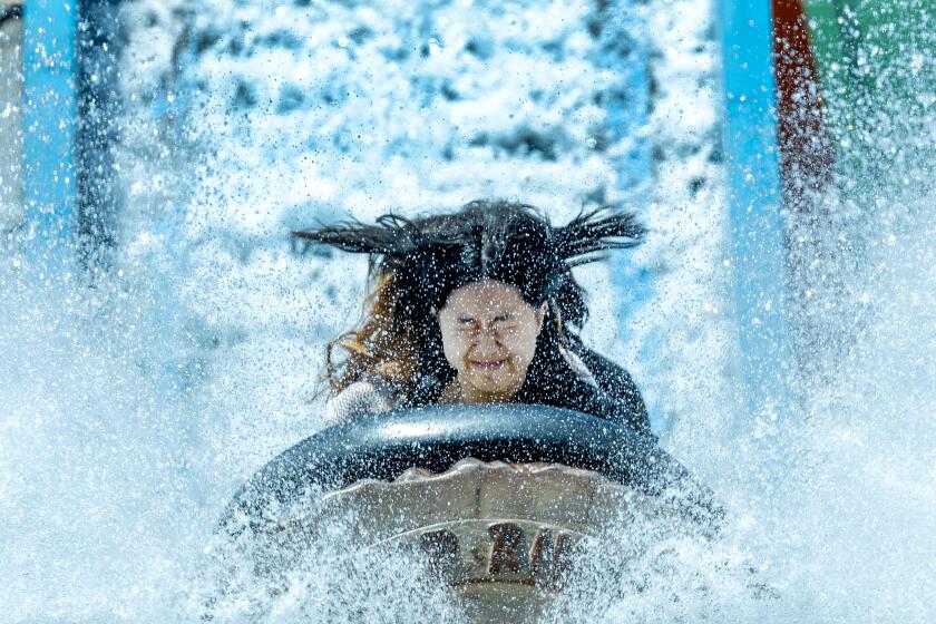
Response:
[[[47,260],[74,248],[77,12],[74,0],[23,8],[26,251]]]

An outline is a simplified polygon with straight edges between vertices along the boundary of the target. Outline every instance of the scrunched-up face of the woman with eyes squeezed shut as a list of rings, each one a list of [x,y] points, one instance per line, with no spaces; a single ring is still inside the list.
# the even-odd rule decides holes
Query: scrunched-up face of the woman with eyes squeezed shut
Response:
[[[507,401],[519,391],[545,314],[545,303],[533,308],[515,286],[494,280],[451,292],[439,328],[464,402]]]

